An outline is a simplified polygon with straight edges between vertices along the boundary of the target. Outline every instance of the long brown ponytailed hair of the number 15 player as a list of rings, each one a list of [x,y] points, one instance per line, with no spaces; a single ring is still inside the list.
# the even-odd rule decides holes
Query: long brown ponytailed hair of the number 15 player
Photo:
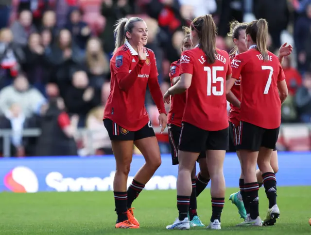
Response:
[[[191,30],[198,33],[200,48],[207,56],[208,63],[216,61],[216,25],[211,15],[199,16],[192,21]]]

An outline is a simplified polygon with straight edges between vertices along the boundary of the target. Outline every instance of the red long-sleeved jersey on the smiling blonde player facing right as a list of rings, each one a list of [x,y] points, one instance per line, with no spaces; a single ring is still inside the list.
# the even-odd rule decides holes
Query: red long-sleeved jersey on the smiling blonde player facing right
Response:
[[[158,83],[155,54],[146,48],[147,59],[138,61],[138,53],[126,42],[110,61],[110,94],[104,109],[104,119],[130,131],[137,131],[149,121],[145,108],[147,84],[159,113],[166,113]]]

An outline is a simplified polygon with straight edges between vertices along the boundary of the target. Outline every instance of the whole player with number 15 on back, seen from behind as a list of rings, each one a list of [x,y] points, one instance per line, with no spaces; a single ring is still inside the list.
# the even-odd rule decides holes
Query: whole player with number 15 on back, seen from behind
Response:
[[[164,100],[187,90],[186,106],[178,146],[178,218],[167,229],[189,229],[191,172],[199,154],[206,151],[211,178],[212,216],[208,228],[220,229],[225,204],[223,164],[228,147],[228,117],[225,79],[231,77],[229,55],[216,49],[216,26],[211,15],[199,16],[191,23],[190,39],[195,48],[182,52],[180,79]],[[229,90],[230,91],[230,90]]]

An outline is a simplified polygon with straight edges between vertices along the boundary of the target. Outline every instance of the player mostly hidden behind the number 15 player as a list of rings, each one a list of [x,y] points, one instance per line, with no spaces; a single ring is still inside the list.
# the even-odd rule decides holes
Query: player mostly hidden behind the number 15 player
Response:
[[[183,39],[181,51],[187,51],[193,49],[193,44],[190,40],[190,28],[184,27],[186,36]],[[179,64],[180,60],[175,61],[171,64],[170,69],[170,78],[171,85],[173,86],[179,81]],[[173,165],[178,164],[178,143],[181,132],[181,120],[184,114],[184,109],[186,105],[186,93],[176,94],[172,97],[171,109],[168,113],[168,132],[169,140],[172,149],[172,163]],[[198,160],[200,165],[200,174],[195,177],[196,167],[191,172],[191,183],[192,183],[192,192],[190,197],[190,206],[189,206],[189,219],[190,227],[198,226],[204,227],[201,219],[197,215],[197,203],[196,197],[199,195],[206,187],[209,181],[209,174],[207,170],[207,161],[205,151],[200,153]]]

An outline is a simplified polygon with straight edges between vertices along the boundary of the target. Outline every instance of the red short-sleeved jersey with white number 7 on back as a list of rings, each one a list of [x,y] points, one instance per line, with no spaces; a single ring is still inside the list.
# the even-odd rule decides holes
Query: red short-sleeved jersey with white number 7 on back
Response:
[[[241,121],[274,129],[281,124],[281,100],[277,81],[285,79],[282,66],[273,53],[264,61],[256,47],[235,57],[232,78],[241,76]]]

